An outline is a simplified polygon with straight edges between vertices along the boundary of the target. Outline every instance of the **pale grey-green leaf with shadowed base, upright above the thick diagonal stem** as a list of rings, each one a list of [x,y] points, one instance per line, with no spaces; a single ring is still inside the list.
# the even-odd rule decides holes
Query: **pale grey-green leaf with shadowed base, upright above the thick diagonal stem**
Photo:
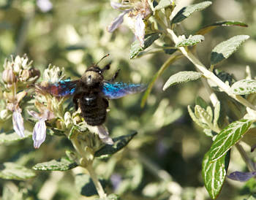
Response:
[[[249,39],[249,36],[233,36],[232,38],[227,39],[214,47],[214,50],[211,52],[211,65],[219,64],[219,62],[230,57],[230,55],[235,53],[236,50],[238,50],[238,47],[240,47],[242,43],[246,41],[246,39]]]

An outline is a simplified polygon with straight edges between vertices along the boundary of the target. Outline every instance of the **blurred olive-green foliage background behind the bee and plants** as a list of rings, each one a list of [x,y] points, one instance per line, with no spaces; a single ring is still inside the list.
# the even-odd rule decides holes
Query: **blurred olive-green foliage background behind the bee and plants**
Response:
[[[200,1],[176,2],[175,13],[181,7]],[[256,1],[212,2],[211,7],[184,20],[179,34],[195,34],[203,26],[220,20],[247,23],[248,28],[214,29],[197,45],[197,56],[209,66],[211,50],[219,42],[247,34],[249,41],[218,68],[240,80],[249,65],[254,77]],[[105,77],[112,77],[117,69],[121,69],[118,81],[148,83],[170,55],[146,54],[129,60],[130,45],[135,39],[132,31],[125,23],[113,34],[106,31],[118,14],[107,0],[0,0],[0,72],[5,58],[26,53],[41,72],[53,64],[64,67],[67,77],[75,79],[88,66],[110,53],[99,64],[104,66],[112,61]],[[97,174],[108,179],[107,193],[117,193],[121,199],[209,199],[203,187],[201,162],[211,146],[211,138],[192,123],[187,112],[187,105],[194,105],[197,96],[209,101],[208,94],[200,81],[162,91],[171,74],[184,70],[195,70],[186,58],[169,66],[154,85],[144,108],[140,108],[143,94],[110,101],[106,126],[111,136],[131,134],[134,130],[138,135],[121,152],[95,162]],[[0,123],[0,130],[11,127],[12,120],[4,124]],[[47,136],[46,142],[37,150],[32,140],[26,139],[1,145],[0,163],[11,161],[31,167],[38,162],[60,158],[67,149],[72,150],[69,140],[59,136]],[[253,153],[250,155],[254,156]],[[4,187],[8,187],[17,191],[17,199],[90,199],[75,189],[74,175],[82,170],[37,172],[37,176],[29,181],[0,180],[0,194]],[[247,170],[235,149],[229,170]],[[226,180],[218,199],[244,199],[253,191],[256,192],[255,180],[247,183]]]

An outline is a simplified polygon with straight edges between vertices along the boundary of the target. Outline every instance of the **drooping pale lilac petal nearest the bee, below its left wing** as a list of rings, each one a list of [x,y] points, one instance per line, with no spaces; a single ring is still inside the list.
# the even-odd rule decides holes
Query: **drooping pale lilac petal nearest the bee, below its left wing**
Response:
[[[45,142],[46,137],[46,125],[45,119],[40,119],[34,126],[33,130],[33,140],[34,140],[34,147],[39,148],[42,145],[42,142]]]

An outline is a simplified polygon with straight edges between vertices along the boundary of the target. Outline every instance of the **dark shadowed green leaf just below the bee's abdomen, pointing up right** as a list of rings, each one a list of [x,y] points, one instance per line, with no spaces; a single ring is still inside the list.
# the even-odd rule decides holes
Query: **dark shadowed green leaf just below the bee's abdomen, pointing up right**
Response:
[[[137,132],[133,134],[129,134],[126,136],[118,136],[113,139],[114,144],[113,145],[105,145],[100,150],[97,150],[97,152],[94,154],[95,157],[99,157],[101,155],[110,155],[113,153],[118,152],[118,150],[121,150],[126,145],[128,145],[129,141],[137,135]]]

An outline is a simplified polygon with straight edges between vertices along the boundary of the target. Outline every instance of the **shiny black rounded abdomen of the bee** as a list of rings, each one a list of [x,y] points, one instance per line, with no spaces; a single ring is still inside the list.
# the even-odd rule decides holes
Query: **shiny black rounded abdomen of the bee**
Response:
[[[99,126],[105,122],[108,101],[99,96],[84,96],[80,99],[80,109],[86,123],[91,126]]]

